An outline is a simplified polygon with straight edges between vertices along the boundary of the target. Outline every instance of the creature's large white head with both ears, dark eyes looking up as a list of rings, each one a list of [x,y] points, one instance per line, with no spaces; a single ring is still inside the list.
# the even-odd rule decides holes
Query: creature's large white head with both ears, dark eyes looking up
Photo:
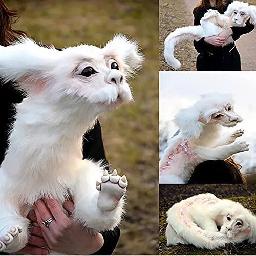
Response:
[[[45,94],[68,104],[86,102],[100,112],[132,100],[126,79],[141,68],[142,61],[138,45],[123,35],[103,48],[79,45],[62,51],[22,38],[0,47],[0,76],[17,82],[29,96]]]

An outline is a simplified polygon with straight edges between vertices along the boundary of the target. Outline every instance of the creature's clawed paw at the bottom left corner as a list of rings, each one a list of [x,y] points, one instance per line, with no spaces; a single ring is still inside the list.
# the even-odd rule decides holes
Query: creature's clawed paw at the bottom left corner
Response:
[[[0,235],[0,252],[16,252],[25,247],[27,232],[19,225],[4,228]]]

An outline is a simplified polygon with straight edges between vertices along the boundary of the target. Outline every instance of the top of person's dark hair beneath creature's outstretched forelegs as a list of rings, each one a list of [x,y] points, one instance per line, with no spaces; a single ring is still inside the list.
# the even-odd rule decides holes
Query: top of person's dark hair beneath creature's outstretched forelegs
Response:
[[[193,184],[244,184],[240,169],[232,159],[209,160],[200,163],[191,175],[188,183]]]

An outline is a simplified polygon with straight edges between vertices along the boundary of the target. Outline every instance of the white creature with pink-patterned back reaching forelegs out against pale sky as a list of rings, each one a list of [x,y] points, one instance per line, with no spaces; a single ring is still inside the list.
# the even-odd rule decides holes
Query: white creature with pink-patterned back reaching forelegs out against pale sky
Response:
[[[243,130],[226,137],[221,134],[222,126],[234,127],[242,120],[228,94],[205,94],[193,106],[181,109],[174,118],[180,133],[168,141],[160,158],[159,183],[186,183],[200,162],[248,151],[249,144],[235,142]]]

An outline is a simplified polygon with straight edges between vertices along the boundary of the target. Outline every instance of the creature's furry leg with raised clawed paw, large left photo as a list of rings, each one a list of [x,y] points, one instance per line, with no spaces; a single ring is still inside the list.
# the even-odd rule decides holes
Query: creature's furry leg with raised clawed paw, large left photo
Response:
[[[121,221],[126,187],[125,176],[103,173],[99,165],[83,160],[74,188],[75,219],[93,231],[113,229]]]

